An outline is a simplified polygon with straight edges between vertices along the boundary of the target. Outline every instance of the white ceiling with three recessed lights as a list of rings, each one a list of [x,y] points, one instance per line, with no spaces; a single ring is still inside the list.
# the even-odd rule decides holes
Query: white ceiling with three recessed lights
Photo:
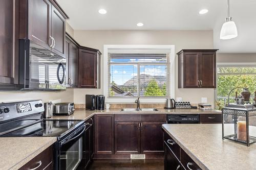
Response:
[[[57,0],[74,30],[214,30],[222,53],[256,53],[256,0],[230,0],[238,37],[220,40],[226,0]],[[98,10],[104,8],[105,15]],[[204,15],[201,9],[208,9]],[[143,27],[137,27],[143,22]]]

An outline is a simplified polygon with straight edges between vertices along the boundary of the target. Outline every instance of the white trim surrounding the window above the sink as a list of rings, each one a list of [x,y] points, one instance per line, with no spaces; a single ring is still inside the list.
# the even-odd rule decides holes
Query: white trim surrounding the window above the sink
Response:
[[[107,103],[133,103],[137,98],[127,98],[127,99],[113,99],[109,98],[108,95],[108,54],[111,49],[156,49],[156,50],[168,50],[170,57],[170,94],[172,98],[175,98],[175,45],[104,45],[103,50],[103,93],[105,95],[105,102]],[[165,99],[163,98],[141,98],[140,102],[147,103],[163,103]]]

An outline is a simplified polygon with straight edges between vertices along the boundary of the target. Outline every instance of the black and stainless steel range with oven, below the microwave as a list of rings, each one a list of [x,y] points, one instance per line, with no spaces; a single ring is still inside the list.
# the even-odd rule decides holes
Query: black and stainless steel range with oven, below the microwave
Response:
[[[0,104],[0,137],[56,136],[54,169],[83,169],[90,125],[83,120],[43,119],[43,112],[41,100]]]

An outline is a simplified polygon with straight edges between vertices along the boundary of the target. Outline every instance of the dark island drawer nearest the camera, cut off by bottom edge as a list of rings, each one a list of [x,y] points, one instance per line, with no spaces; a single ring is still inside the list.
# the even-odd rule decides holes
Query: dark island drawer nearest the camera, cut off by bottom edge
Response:
[[[183,151],[180,149],[180,161],[186,169],[200,170],[201,168]]]

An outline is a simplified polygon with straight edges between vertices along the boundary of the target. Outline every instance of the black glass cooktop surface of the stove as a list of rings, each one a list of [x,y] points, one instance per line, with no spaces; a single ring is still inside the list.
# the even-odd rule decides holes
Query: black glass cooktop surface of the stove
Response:
[[[22,123],[20,123],[22,124]],[[61,137],[83,124],[80,120],[42,120],[39,123],[4,134],[1,137],[56,136]]]

